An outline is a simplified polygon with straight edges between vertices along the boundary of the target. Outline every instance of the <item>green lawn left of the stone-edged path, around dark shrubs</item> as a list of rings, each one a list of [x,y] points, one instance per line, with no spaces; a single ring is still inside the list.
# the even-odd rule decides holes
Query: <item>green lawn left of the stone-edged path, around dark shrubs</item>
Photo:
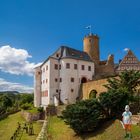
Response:
[[[8,118],[0,121],[0,140],[10,140],[10,137],[17,128],[17,122],[22,124],[25,122],[25,120],[21,117],[20,112],[9,115]],[[35,140],[41,130],[41,127],[41,123],[34,122],[33,128],[35,135],[28,136],[28,134],[24,131],[21,140]]]

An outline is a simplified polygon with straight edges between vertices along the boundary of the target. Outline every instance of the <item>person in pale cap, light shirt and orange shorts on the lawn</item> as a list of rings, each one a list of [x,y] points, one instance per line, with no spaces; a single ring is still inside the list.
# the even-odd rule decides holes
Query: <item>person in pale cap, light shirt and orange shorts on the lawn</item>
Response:
[[[125,106],[125,111],[123,112],[122,116],[123,116],[123,125],[125,128],[125,138],[129,137],[132,138],[132,133],[131,133],[131,117],[132,117],[132,113],[129,111],[130,107],[129,105]]]

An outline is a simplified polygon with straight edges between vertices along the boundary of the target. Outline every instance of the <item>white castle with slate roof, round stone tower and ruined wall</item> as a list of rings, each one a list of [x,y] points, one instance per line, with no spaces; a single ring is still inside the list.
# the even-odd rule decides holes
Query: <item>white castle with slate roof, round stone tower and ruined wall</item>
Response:
[[[128,53],[132,57],[133,53]],[[140,70],[140,63],[134,58]],[[115,75],[122,71],[122,64],[123,61],[116,67],[113,55],[100,61],[99,37],[94,34],[84,37],[83,51],[61,46],[35,68],[34,105],[46,107],[49,104],[75,103],[82,83]],[[131,62],[131,67],[134,64]],[[123,66],[125,69],[127,67]]]

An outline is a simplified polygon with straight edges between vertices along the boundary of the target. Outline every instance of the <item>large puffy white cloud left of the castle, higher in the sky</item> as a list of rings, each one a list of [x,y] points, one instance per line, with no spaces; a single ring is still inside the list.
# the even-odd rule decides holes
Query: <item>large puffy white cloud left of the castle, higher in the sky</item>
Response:
[[[0,47],[0,70],[16,75],[33,75],[33,68],[37,65],[27,59],[32,56],[24,49],[12,48],[9,45]]]

